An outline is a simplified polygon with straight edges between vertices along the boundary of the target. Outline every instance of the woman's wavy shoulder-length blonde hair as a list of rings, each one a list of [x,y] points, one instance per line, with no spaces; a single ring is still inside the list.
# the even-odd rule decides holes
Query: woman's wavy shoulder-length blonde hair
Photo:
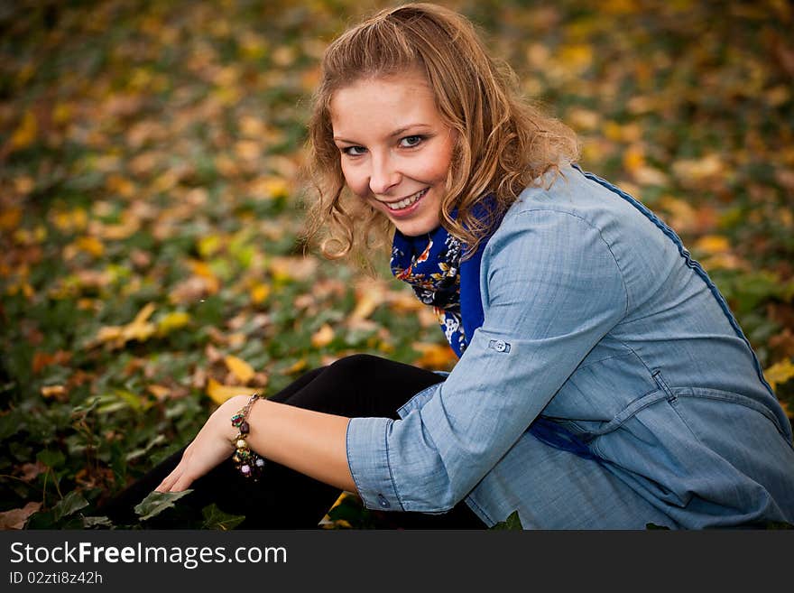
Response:
[[[319,236],[323,255],[363,255],[383,245],[391,222],[346,189],[333,141],[330,103],[355,81],[420,69],[442,120],[457,131],[439,218],[474,253],[494,220],[472,208],[486,194],[496,214],[549,171],[577,159],[577,137],[568,126],[522,101],[514,72],[488,56],[464,16],[439,5],[414,3],[382,10],[331,42],[312,97],[307,175],[317,199],[309,205],[306,237]],[[451,213],[457,208],[457,216]]]

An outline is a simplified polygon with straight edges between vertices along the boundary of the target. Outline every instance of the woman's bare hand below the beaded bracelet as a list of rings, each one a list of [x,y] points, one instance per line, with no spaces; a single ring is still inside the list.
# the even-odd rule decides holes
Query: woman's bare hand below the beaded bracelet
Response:
[[[248,401],[247,395],[238,395],[222,403],[208,418],[199,434],[182,454],[179,465],[155,488],[158,492],[181,492],[194,480],[225,461],[235,452],[232,444],[237,431],[231,418]]]

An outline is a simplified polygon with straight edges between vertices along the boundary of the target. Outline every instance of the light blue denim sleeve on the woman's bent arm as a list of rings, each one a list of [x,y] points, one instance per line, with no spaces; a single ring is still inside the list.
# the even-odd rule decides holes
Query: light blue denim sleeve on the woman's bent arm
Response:
[[[446,381],[401,420],[348,423],[347,460],[368,508],[456,505],[628,306],[599,229],[550,208],[505,218],[485,247],[481,293],[485,322]]]

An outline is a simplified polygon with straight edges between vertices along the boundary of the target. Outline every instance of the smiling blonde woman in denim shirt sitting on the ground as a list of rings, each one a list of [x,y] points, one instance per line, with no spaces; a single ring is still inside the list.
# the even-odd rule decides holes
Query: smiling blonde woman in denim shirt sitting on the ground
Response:
[[[331,43],[314,228],[330,256],[393,229],[392,270],[459,361],[444,376],[349,357],[234,397],[150,488],[233,491],[229,510],[264,528],[313,527],[340,490],[395,525],[794,522],[791,426],[724,298],[510,80],[435,5]]]

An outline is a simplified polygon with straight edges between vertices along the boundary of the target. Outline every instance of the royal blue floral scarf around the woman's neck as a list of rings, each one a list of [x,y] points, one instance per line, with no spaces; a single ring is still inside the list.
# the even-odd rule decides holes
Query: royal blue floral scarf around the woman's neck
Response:
[[[474,209],[475,217],[480,220],[487,220],[493,212],[494,200],[488,198]],[[456,214],[453,212],[453,217]],[[399,230],[394,231],[392,273],[398,280],[411,284],[420,301],[433,307],[457,357],[463,355],[475,329],[485,320],[480,297],[480,264],[485,245],[498,226],[490,226],[490,234],[465,260],[462,256],[466,246],[444,227],[423,236],[405,236]],[[531,423],[529,431],[552,447],[585,459],[598,459],[575,434],[543,416]]]

